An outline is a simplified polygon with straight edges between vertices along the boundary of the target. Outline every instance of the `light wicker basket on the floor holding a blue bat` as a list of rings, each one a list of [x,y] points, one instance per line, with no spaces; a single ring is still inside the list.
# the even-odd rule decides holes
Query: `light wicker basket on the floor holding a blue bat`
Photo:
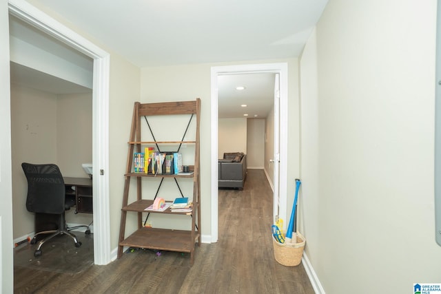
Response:
[[[305,237],[297,233],[296,243],[279,243],[273,236],[274,258],[284,266],[297,266],[302,261]]]

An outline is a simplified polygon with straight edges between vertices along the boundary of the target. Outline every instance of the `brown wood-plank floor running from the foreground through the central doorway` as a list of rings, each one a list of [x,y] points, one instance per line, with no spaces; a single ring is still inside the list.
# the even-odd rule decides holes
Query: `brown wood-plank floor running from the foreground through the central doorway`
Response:
[[[142,249],[80,273],[16,265],[14,293],[314,293],[302,264],[274,260],[272,192],[262,170],[248,170],[243,191],[220,189],[218,198],[218,242],[196,246],[193,266],[187,254]]]

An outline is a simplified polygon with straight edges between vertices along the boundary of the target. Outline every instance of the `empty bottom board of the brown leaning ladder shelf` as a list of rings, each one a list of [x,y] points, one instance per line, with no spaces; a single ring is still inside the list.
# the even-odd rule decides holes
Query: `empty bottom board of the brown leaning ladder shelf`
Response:
[[[119,246],[191,252],[199,233],[195,232],[194,235],[195,239],[192,240],[191,231],[141,228],[120,242]]]

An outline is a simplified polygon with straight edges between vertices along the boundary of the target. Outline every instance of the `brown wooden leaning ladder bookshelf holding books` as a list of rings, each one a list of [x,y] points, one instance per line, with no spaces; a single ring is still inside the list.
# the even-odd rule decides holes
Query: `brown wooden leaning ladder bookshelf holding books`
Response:
[[[188,115],[189,124],[196,120],[196,127],[194,134],[195,140],[184,140],[186,134],[182,137],[183,140],[141,140],[141,122],[143,119],[147,121],[147,117],[152,116],[174,116],[174,115]],[[134,104],[132,125],[130,129],[130,139],[128,142],[128,154],[127,154],[127,166],[125,170],[125,182],[123,191],[123,205],[121,209],[121,225],[119,231],[119,246],[118,246],[118,258],[121,258],[124,247],[135,247],[143,249],[156,249],[163,251],[177,251],[183,253],[189,253],[190,263],[194,262],[194,251],[196,243],[201,245],[201,182],[200,182],[200,158],[199,158],[199,125],[201,117],[201,100],[196,98],[195,101],[178,101],[178,102],[165,102],[165,103],[139,103]],[[148,125],[148,123],[147,123]],[[148,125],[150,128],[150,125]],[[169,127],[165,125],[161,127],[161,132],[165,132],[164,129]],[[170,127],[173,127],[172,125]],[[188,129],[188,126],[187,126]],[[187,132],[185,129],[185,133]],[[150,129],[150,132],[153,132]],[[153,136],[154,138],[154,136]],[[194,147],[194,160],[193,165],[188,166],[188,172],[180,173],[174,171],[174,162],[165,163],[158,161],[156,165],[154,162],[150,162],[151,153],[154,153],[151,148],[146,149],[146,146],[156,145],[156,147],[169,145],[176,146],[178,149],[181,145],[185,147]],[[145,153],[143,153],[145,150]],[[161,153],[157,150],[156,153]],[[176,156],[179,152],[174,152],[168,155],[168,160],[172,160],[173,156]],[[141,154],[143,154],[141,156]],[[147,154],[147,156],[146,156]],[[181,156],[181,155],[180,155]],[[164,156],[165,158],[166,156]],[[141,163],[142,162],[142,163]],[[140,168],[144,165],[143,168]],[[161,165],[158,167],[158,165]],[[171,167],[173,165],[173,167]],[[156,167],[156,170],[154,168]],[[161,169],[163,167],[164,171]],[[158,173],[161,170],[161,173]],[[154,171],[154,172],[153,172]],[[155,199],[143,198],[143,185],[146,189],[154,189],[152,185],[147,182],[152,178],[174,178],[176,185],[178,182],[176,179],[182,178],[183,180],[192,180],[193,182],[193,197],[192,197],[192,209],[191,211],[173,212],[170,208],[165,211],[145,211],[147,207],[153,204]],[[131,182],[136,181],[136,200],[128,202]],[[158,187],[157,189],[159,189]],[[179,191],[181,189],[179,188]],[[156,191],[156,195],[157,195]],[[174,200],[178,195],[170,196],[169,201]],[[155,196],[156,198],[156,196]],[[126,220],[127,213],[137,213],[138,215],[138,227],[134,233],[126,236]],[[183,218],[191,218],[191,225],[187,230],[181,229],[158,229],[151,227],[144,227],[142,225],[143,214],[145,213],[163,213],[167,215],[179,215]],[[148,217],[148,215],[147,215]]]

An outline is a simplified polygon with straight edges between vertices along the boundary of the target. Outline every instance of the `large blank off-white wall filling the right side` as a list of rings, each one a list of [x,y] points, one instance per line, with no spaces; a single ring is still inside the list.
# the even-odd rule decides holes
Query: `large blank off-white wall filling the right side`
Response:
[[[305,48],[301,199],[326,293],[440,282],[435,16],[435,0],[331,0]]]

